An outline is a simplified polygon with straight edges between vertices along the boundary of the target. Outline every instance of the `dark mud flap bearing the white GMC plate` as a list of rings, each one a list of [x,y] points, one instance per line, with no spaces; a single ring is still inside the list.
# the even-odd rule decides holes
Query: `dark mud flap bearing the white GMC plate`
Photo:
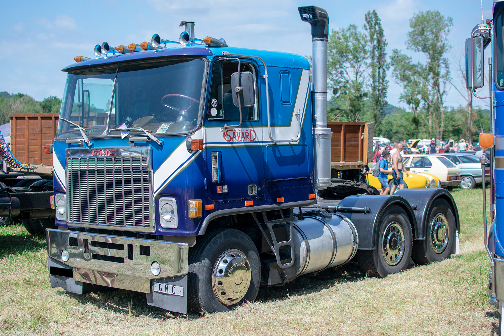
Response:
[[[187,313],[187,275],[151,280],[147,304],[175,313]]]

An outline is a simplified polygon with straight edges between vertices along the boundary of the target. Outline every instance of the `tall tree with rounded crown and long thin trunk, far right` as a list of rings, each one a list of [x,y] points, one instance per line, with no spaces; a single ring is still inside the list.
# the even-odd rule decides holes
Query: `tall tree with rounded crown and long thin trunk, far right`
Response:
[[[429,95],[423,99],[429,105],[429,130],[434,131],[432,117],[436,122],[437,136],[443,138],[445,129],[444,98],[447,95],[447,84],[450,80],[450,65],[445,53],[451,48],[448,40],[453,20],[444,17],[438,11],[426,11],[415,14],[410,19],[411,31],[406,40],[407,49],[423,52],[427,59],[425,71],[429,76]]]

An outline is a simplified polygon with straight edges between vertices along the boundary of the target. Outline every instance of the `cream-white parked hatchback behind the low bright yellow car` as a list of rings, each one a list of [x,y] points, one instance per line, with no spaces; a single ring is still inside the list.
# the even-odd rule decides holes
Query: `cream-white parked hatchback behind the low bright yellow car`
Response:
[[[412,173],[428,173],[437,176],[443,188],[460,185],[460,168],[442,155],[403,155],[403,163]]]

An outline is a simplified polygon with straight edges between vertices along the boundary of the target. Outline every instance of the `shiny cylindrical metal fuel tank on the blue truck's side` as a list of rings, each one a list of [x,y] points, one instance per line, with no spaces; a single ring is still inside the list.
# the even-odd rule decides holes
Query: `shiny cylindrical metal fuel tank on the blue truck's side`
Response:
[[[350,261],[359,244],[353,223],[339,214],[296,220],[293,235],[296,277]]]

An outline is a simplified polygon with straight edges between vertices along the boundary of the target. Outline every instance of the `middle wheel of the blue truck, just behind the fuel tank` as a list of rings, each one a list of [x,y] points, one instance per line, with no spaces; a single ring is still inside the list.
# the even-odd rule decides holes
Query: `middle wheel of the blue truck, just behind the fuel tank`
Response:
[[[377,278],[404,271],[411,257],[412,241],[406,212],[400,206],[392,206],[378,224],[374,250],[359,250],[359,265],[368,276]]]

